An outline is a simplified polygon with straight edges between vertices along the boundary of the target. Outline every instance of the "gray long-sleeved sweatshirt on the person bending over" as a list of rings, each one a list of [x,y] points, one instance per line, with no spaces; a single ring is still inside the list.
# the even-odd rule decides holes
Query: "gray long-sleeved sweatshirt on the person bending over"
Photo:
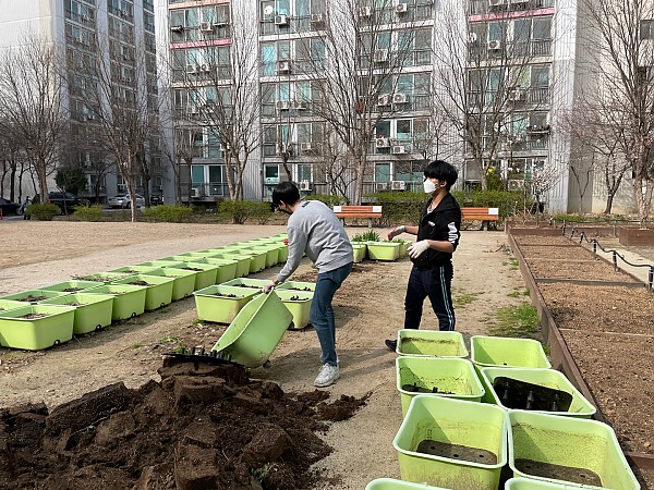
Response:
[[[352,244],[339,219],[319,200],[300,203],[288,222],[289,258],[277,275],[286,281],[304,254],[318,272],[329,272],[354,260]]]

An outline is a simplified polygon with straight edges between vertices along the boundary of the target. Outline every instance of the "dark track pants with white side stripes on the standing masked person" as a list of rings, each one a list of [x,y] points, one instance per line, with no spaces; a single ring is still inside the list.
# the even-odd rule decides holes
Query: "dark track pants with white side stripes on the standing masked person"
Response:
[[[455,330],[457,320],[451,293],[453,274],[452,262],[444,264],[434,269],[419,269],[413,266],[404,298],[405,329],[420,328],[423,303],[428,297],[432,308],[438,317],[439,330]]]

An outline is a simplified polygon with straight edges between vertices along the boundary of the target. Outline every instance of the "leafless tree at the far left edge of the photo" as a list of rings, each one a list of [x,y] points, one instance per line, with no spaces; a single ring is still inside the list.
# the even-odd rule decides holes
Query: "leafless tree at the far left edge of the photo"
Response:
[[[0,131],[20,142],[34,161],[41,201],[48,200],[47,176],[68,131],[62,60],[56,46],[34,36],[0,58]]]

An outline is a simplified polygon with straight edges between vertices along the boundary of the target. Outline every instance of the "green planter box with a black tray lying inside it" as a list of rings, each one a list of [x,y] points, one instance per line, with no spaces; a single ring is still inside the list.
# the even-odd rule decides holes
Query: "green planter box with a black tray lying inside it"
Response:
[[[571,417],[591,418],[596,408],[579,392],[577,388],[566,378],[566,375],[554,369],[528,369],[528,368],[496,368],[487,367],[482,369],[482,378],[487,387],[491,387],[491,395],[495,404],[504,406],[497,392],[493,389],[495,378],[506,377],[525,381],[528,383],[540,384],[541,387],[561,390],[572,395],[572,403],[567,412],[547,412],[553,415],[567,415]]]

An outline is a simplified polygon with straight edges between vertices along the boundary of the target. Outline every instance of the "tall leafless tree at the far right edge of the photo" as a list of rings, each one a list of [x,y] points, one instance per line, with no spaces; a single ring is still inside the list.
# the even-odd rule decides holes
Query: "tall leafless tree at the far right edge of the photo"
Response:
[[[654,4],[649,0],[583,0],[589,30],[592,84],[583,87],[585,106],[597,108],[601,123],[632,173],[641,228],[646,226],[654,191]]]

